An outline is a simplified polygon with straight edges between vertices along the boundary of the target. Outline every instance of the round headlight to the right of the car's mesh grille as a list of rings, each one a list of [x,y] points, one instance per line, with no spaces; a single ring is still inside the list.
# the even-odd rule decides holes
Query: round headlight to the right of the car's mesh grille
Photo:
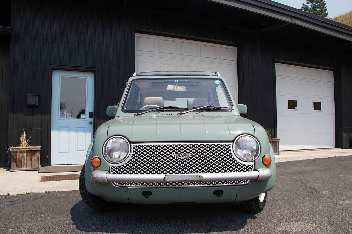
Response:
[[[240,160],[251,162],[258,158],[260,146],[253,136],[241,135],[235,139],[233,150]]]

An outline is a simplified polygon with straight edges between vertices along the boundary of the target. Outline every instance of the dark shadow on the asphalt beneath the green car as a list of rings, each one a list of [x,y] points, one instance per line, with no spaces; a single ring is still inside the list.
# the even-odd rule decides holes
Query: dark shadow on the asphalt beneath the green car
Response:
[[[123,204],[112,212],[97,212],[80,201],[70,213],[77,230],[102,233],[233,232],[257,218],[241,210],[238,203]]]

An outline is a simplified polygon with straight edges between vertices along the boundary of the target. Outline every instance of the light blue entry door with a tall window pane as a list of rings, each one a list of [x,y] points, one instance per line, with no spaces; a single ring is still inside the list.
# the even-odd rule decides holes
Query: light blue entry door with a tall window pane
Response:
[[[94,73],[52,72],[51,165],[83,164],[93,141]]]

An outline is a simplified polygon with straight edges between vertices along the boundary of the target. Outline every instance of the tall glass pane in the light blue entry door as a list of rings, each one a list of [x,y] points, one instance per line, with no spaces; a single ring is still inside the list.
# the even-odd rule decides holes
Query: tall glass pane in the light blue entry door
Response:
[[[60,119],[86,119],[87,79],[61,77]]]

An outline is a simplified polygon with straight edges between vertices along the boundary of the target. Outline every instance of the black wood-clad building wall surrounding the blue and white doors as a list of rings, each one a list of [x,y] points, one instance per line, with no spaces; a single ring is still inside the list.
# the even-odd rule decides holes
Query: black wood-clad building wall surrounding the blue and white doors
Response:
[[[349,146],[351,59],[276,35],[258,40],[255,27],[217,22],[199,11],[187,13],[168,6],[161,6],[165,9],[160,11],[126,2],[12,1],[8,145],[17,145],[25,129],[31,145],[42,146],[41,165],[50,165],[53,67],[94,71],[95,129],[108,120],[106,107],[119,102],[134,72],[134,35],[142,32],[236,45],[239,102],[249,108],[245,117],[259,122],[272,136],[276,134],[275,61],[336,69],[337,147]],[[39,107],[27,107],[26,94],[39,94]]]

